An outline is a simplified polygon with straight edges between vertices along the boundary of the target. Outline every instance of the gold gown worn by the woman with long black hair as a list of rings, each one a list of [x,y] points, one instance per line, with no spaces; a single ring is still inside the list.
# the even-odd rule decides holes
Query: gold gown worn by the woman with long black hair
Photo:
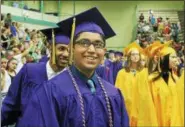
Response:
[[[159,126],[182,126],[180,122],[179,102],[176,83],[169,75],[168,84],[162,77],[153,81],[158,75],[154,72],[149,75],[149,86],[154,101]],[[173,75],[175,79],[175,75]]]

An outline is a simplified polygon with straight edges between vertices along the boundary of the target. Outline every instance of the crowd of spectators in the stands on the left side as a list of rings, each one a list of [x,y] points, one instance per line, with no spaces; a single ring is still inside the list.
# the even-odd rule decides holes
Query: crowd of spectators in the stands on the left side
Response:
[[[1,79],[12,81],[25,63],[38,62],[46,54],[44,40],[40,31],[12,21],[10,13],[1,14]]]

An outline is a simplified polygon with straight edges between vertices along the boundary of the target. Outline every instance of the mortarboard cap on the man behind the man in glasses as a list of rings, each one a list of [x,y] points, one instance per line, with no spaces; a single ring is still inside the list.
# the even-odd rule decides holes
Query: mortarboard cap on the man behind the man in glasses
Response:
[[[54,30],[55,44],[68,45],[70,43],[70,36],[60,27],[41,30],[41,32],[47,36],[50,44],[52,43],[52,29]]]

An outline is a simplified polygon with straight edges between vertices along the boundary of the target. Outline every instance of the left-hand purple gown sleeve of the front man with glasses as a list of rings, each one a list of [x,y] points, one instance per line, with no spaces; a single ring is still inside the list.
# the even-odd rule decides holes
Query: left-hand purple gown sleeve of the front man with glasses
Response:
[[[17,126],[20,127],[59,127],[53,107],[50,83],[43,83],[32,96],[26,111]]]

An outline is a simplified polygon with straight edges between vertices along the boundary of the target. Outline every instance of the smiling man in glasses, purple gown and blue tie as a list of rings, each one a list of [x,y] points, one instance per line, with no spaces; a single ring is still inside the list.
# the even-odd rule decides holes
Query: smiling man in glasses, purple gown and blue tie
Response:
[[[71,41],[72,65],[37,89],[19,126],[129,126],[119,89],[95,72],[105,54],[105,40],[115,33],[97,8],[75,18],[76,29]],[[72,22],[73,17],[61,24],[70,28]]]

